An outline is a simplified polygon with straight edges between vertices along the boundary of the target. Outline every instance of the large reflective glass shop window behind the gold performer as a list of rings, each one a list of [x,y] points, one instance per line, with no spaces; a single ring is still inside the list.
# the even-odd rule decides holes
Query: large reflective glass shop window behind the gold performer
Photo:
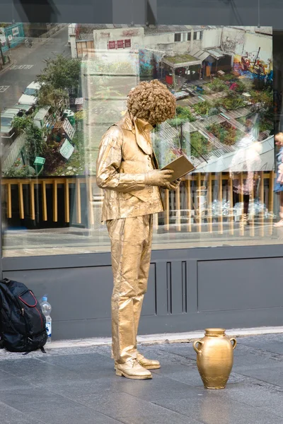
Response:
[[[4,257],[110,250],[98,146],[156,78],[177,100],[152,134],[159,165],[183,154],[195,170],[163,192],[154,249],[282,243],[280,33],[1,23],[0,41]]]

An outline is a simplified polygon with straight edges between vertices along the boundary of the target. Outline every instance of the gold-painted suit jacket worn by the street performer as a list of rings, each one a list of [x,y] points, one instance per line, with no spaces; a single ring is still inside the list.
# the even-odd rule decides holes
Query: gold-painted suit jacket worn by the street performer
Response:
[[[146,172],[158,169],[151,146],[152,129],[127,112],[100,141],[96,183],[104,190],[103,221],[164,210],[159,187],[145,184]]]

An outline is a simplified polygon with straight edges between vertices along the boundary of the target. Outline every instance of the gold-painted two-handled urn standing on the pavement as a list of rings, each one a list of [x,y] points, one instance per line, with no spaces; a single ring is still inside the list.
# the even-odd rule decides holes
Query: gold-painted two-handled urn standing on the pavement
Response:
[[[202,340],[193,343],[197,368],[206,389],[225,389],[236,344],[236,338],[227,337],[224,329],[206,329]]]

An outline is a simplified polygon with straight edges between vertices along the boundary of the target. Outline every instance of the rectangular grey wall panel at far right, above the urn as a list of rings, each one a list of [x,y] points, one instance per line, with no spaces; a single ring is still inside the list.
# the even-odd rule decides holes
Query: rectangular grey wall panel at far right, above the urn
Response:
[[[198,310],[224,311],[283,306],[283,259],[200,261]]]

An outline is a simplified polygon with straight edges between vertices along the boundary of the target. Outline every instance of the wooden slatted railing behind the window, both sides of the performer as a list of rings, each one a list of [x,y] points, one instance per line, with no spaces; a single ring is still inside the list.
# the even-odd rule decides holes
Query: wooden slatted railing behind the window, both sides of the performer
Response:
[[[245,173],[241,173],[239,178],[240,183],[243,182],[246,178]],[[270,212],[268,218],[263,212],[258,216],[261,236],[265,235],[264,223],[272,224],[273,220],[274,183],[275,172],[273,171],[258,172],[255,175],[255,184],[258,185],[258,200]],[[72,217],[75,217],[72,218],[71,223],[86,224],[86,226],[92,227],[95,222],[100,221],[103,192],[96,187],[95,177],[2,179],[1,189],[2,202],[6,201],[6,218],[16,216],[20,219],[35,220],[35,217],[40,213],[41,220],[52,220],[57,223],[58,201],[62,205],[61,196],[64,195],[64,223],[70,223],[71,211]],[[49,201],[48,204],[47,190],[52,192],[52,201]],[[205,207],[202,205],[204,199],[204,196],[200,195],[202,192],[205,192]],[[253,196],[252,193],[250,204],[253,204]],[[50,192],[49,199],[51,199]],[[214,200],[219,201],[217,216],[212,213],[212,202]],[[229,216],[223,216],[223,213],[221,213],[223,200],[230,201]],[[243,203],[243,194],[239,195],[239,201]],[[163,220],[155,216],[156,230],[160,225],[164,225],[164,229],[169,231],[174,225],[176,232],[202,232],[205,230],[206,232],[217,232],[221,235],[224,232],[225,225],[226,230],[229,229],[229,234],[234,234],[236,216],[233,213],[233,181],[228,173],[190,175],[190,177],[183,179],[177,192],[165,191],[164,204]],[[82,215],[86,215],[86,208],[88,208],[87,223],[82,219]],[[25,213],[27,209],[28,216]],[[243,235],[242,229],[240,229],[240,233]],[[255,236],[253,214],[250,215],[249,233],[251,237]],[[272,225],[268,225],[268,234],[272,234]]]

